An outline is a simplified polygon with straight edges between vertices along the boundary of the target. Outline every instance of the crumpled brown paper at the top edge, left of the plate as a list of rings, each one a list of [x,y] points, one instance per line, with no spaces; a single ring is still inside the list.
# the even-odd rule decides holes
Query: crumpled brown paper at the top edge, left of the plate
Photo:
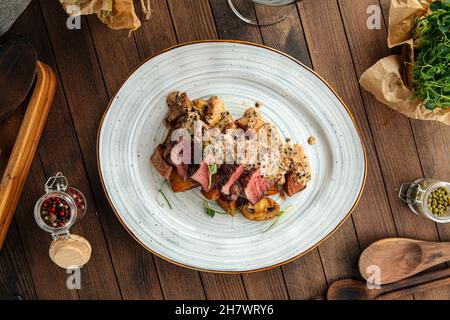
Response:
[[[134,10],[133,0],[59,0],[68,14],[70,6],[78,6],[79,14],[96,14],[98,18],[111,29],[129,29],[135,31],[141,26]],[[150,15],[150,0],[141,0],[142,10],[148,19]]]

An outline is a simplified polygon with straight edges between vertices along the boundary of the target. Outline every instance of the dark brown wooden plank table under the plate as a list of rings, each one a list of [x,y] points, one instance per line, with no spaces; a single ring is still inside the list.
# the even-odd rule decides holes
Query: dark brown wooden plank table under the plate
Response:
[[[39,58],[59,75],[59,87],[5,247],[0,297],[26,299],[309,299],[336,279],[358,277],[357,259],[371,242],[392,236],[449,241],[450,225],[414,216],[395,187],[418,177],[450,180],[450,127],[409,120],[378,103],[359,76],[388,55],[389,0],[304,0],[289,19],[270,27],[241,23],[225,0],[153,0],[149,21],[128,37],[95,16],[68,30],[56,0],[33,0],[12,32],[27,34]],[[370,5],[381,5],[382,28],[366,26]],[[262,10],[258,15],[265,15]],[[106,201],[96,161],[97,129],[109,99],[146,57],[179,42],[239,39],[291,54],[321,74],[353,112],[367,147],[369,173],[351,219],[302,258],[245,275],[201,273],[157,258],[135,242]],[[82,269],[81,290],[68,290],[65,270],[48,258],[50,238],[33,220],[46,177],[64,172],[90,206],[74,233],[94,248]],[[436,290],[416,299],[450,299]]]

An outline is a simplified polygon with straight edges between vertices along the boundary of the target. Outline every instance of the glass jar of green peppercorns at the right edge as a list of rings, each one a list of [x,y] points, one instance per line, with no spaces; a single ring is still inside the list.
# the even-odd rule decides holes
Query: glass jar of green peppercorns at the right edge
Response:
[[[398,189],[399,198],[410,209],[436,221],[450,222],[450,183],[436,179],[419,179],[404,183]]]

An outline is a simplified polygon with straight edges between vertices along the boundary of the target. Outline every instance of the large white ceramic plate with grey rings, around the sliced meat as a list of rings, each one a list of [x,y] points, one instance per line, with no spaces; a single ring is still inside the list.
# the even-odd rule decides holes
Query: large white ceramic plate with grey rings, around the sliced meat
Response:
[[[198,190],[166,188],[173,210],[158,197],[162,178],[149,159],[166,136],[165,99],[173,90],[192,99],[218,95],[235,117],[262,101],[263,118],[305,145],[312,182],[294,197],[277,199],[291,209],[269,231],[273,221],[210,218]],[[308,145],[310,136],[316,145]],[[214,272],[263,270],[314,248],[349,216],[366,174],[352,116],[321,78],[273,49],[224,41],[181,45],[142,64],[110,103],[98,157],[111,205],[136,240],[171,262]]]

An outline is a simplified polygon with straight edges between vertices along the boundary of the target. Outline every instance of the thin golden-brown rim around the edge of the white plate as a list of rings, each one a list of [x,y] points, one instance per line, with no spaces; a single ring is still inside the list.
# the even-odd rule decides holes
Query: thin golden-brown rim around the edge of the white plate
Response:
[[[254,47],[258,47],[258,48],[262,48],[262,49],[266,49],[278,54],[281,54],[282,56],[291,59],[292,61],[294,61],[295,63],[297,63],[300,67],[304,68],[305,70],[311,72],[312,74],[314,74],[317,78],[319,78],[323,83],[325,83],[325,85],[331,90],[331,92],[333,92],[333,94],[336,96],[336,98],[339,99],[339,101],[341,102],[342,106],[344,106],[345,110],[347,111],[348,115],[350,116],[356,131],[358,132],[358,136],[359,139],[361,141],[361,146],[363,149],[363,155],[364,155],[364,179],[363,179],[363,183],[361,185],[361,189],[359,191],[358,197],[356,198],[355,202],[353,203],[352,207],[350,208],[349,212],[346,214],[346,216],[344,217],[344,219],[342,219],[342,221],[326,236],[324,237],[322,240],[320,240],[318,243],[316,243],[315,245],[313,245],[312,247],[310,247],[309,249],[299,253],[298,255],[296,255],[295,257],[292,257],[286,261],[283,262],[279,262],[277,264],[268,266],[268,267],[264,267],[264,268],[258,268],[258,269],[252,269],[252,270],[245,270],[245,271],[221,271],[221,270],[212,270],[212,269],[202,269],[202,268],[198,268],[198,267],[193,267],[193,266],[189,266],[177,261],[174,261],[172,259],[169,259],[167,257],[164,257],[163,255],[153,251],[152,249],[150,249],[147,245],[145,245],[138,237],[136,237],[136,235],[133,234],[133,232],[131,232],[131,230],[128,228],[128,226],[123,222],[122,218],[120,217],[120,215],[117,213],[116,208],[114,207],[114,204],[112,203],[112,200],[108,194],[108,190],[106,189],[105,186],[105,182],[104,182],[104,178],[103,178],[103,173],[102,173],[102,169],[100,166],[100,153],[99,153],[99,149],[100,149],[100,132],[101,129],[103,127],[103,122],[105,120],[105,117],[109,111],[109,108],[111,107],[111,103],[114,101],[114,98],[117,96],[117,94],[119,93],[119,91],[122,89],[123,85],[125,84],[125,82],[128,81],[128,79],[142,66],[144,65],[147,61],[162,55],[166,52],[169,52],[171,50],[180,48],[180,47],[184,47],[184,46],[188,46],[191,44],[199,44],[199,43],[238,43],[238,44],[244,44],[244,45],[249,45],[249,46],[254,46]],[[347,105],[345,104],[345,102],[341,99],[341,97],[336,93],[336,91],[333,89],[333,87],[331,87],[331,85],[325,80],[323,79],[319,74],[317,74],[314,70],[312,70],[311,68],[305,66],[303,63],[301,63],[300,61],[298,61],[296,58],[271,47],[262,45],[262,44],[257,44],[257,43],[253,43],[253,42],[248,42],[248,41],[239,41],[239,40],[197,40],[197,41],[189,41],[189,42],[184,42],[184,43],[180,43],[177,45],[174,45],[172,47],[169,47],[167,49],[164,49],[160,52],[157,52],[151,56],[149,56],[148,58],[146,58],[144,61],[142,61],[137,67],[135,67],[133,69],[133,71],[126,77],[126,79],[121,83],[121,85],[119,86],[119,88],[116,90],[116,92],[114,93],[113,97],[111,98],[111,100],[108,103],[108,106],[105,110],[105,112],[103,113],[102,119],[100,121],[100,125],[97,131],[97,148],[96,148],[96,153],[97,153],[97,166],[98,166],[98,171],[99,171],[99,175],[100,175],[100,180],[102,182],[102,187],[103,190],[105,191],[105,195],[108,199],[109,205],[111,206],[111,208],[114,211],[114,214],[116,215],[117,219],[119,219],[120,223],[122,224],[122,226],[125,228],[125,230],[127,230],[127,232],[134,238],[134,240],[136,240],[141,246],[143,246],[147,251],[151,252],[152,254],[154,254],[155,256],[166,260],[170,263],[173,263],[177,266],[180,267],[185,267],[188,269],[192,269],[192,270],[197,270],[197,271],[201,271],[201,272],[209,272],[209,273],[218,273],[218,274],[246,274],[246,273],[254,273],[254,272],[259,272],[259,271],[266,271],[266,270],[270,270],[282,265],[285,265],[287,263],[290,263],[294,260],[297,260],[298,258],[304,256],[305,254],[307,254],[308,252],[314,250],[315,248],[317,248],[319,245],[321,245],[323,242],[325,242],[326,240],[328,240],[328,238],[330,238],[346,221],[347,219],[350,217],[350,215],[352,214],[352,212],[355,210],[356,206],[358,205],[359,201],[361,200],[361,196],[362,193],[364,191],[364,187],[366,184],[366,179],[367,179],[367,154],[366,154],[366,147],[364,145],[364,141],[362,139],[361,136],[361,131],[358,127],[358,125],[356,124],[355,118],[353,117],[353,114],[351,113],[350,109],[347,107]]]

